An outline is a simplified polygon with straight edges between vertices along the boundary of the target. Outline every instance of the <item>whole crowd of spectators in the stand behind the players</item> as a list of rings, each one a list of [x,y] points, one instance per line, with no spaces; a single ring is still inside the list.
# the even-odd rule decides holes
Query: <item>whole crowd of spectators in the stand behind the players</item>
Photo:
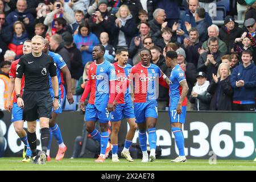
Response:
[[[171,70],[164,56],[177,52],[189,85],[188,110],[254,111],[256,2],[234,2],[246,8],[243,24],[230,9],[217,26],[216,6],[210,6],[216,0],[0,0],[1,93],[6,92],[6,61],[18,59],[24,41],[41,35],[67,63],[73,94],[82,93],[96,44],[106,48],[104,58],[112,63],[115,50],[127,48],[131,65],[146,47],[151,63],[167,76]],[[159,87],[159,109],[164,110],[168,89]]]

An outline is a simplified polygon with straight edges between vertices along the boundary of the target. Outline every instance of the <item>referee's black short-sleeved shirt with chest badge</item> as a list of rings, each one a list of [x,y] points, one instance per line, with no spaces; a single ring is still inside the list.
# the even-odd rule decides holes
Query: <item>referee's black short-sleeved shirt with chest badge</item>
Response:
[[[56,76],[56,64],[51,56],[42,53],[35,57],[32,53],[20,57],[16,77],[25,76],[24,90],[38,91],[49,89],[49,75]]]

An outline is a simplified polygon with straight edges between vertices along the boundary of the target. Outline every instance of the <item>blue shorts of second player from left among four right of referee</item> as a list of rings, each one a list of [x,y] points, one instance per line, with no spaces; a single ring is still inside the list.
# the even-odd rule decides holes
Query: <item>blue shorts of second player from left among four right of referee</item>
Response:
[[[133,102],[118,104],[110,113],[110,121],[120,121],[123,118],[135,118]]]

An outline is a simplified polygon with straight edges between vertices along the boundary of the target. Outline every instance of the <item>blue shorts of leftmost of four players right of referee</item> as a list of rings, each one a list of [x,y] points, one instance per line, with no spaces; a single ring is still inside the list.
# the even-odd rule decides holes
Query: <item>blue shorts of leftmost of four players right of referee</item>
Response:
[[[108,123],[110,113],[107,109],[108,104],[88,104],[85,110],[85,121],[100,121],[100,123]]]

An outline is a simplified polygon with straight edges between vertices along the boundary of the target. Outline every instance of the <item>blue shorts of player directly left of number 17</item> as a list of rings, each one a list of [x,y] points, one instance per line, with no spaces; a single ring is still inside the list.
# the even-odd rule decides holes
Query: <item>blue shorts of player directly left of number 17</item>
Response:
[[[134,102],[134,114],[136,123],[143,123],[147,117],[158,118],[158,102]]]

